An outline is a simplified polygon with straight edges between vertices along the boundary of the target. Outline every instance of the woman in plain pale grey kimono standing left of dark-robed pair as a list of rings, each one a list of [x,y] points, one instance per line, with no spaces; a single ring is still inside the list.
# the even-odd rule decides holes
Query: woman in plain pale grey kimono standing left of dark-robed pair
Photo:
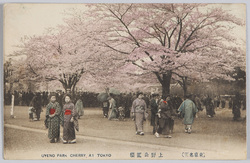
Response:
[[[135,119],[136,135],[144,135],[143,121],[145,120],[145,113],[147,110],[146,102],[142,99],[143,93],[137,93],[137,99],[133,101],[131,113]]]

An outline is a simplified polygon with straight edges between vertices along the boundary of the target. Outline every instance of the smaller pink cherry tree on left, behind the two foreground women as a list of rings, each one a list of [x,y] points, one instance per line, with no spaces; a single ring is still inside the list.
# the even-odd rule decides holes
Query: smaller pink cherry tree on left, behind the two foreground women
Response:
[[[109,87],[117,83],[115,80],[111,82],[111,74],[121,66],[119,58],[124,60],[124,57],[97,46],[98,42],[92,36],[98,27],[91,26],[91,20],[76,12],[72,9],[66,13],[65,24],[48,29],[44,35],[22,38],[23,44],[15,55],[26,56],[24,64],[29,70],[26,73],[28,79],[57,80],[66,92],[71,90],[73,93],[80,81],[83,84],[109,84]]]

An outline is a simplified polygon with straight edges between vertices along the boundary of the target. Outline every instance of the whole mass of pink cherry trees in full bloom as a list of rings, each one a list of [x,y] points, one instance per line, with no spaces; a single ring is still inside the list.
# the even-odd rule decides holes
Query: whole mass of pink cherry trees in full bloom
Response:
[[[24,38],[16,54],[27,56],[29,78],[58,80],[74,92],[83,76],[110,87],[130,79],[127,74],[137,76],[132,84],[153,74],[163,95],[170,93],[172,79],[186,94],[188,80],[227,79],[229,71],[245,63],[241,45],[229,32],[244,23],[213,5],[87,6],[68,11],[65,24],[56,29]]]

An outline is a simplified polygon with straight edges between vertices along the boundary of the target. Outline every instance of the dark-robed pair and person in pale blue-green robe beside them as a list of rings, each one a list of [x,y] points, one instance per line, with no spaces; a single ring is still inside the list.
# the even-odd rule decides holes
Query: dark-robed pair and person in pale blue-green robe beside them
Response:
[[[181,100],[179,106],[176,107],[176,105],[174,105],[174,98],[171,97],[171,95],[167,95],[160,99],[158,94],[153,94],[153,98],[150,102],[151,125],[153,126],[153,134],[156,137],[160,137],[160,134],[166,138],[172,137],[174,116],[177,116],[178,114],[183,118],[185,132],[189,134],[191,133],[194,117],[198,112],[198,109],[191,98],[191,95],[187,95],[186,100],[183,102]]]

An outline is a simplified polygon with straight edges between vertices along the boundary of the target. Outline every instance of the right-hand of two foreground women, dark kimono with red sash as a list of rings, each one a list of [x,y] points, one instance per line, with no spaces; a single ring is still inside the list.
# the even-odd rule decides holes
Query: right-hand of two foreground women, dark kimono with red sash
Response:
[[[64,124],[63,124],[63,143],[76,143],[74,120],[77,119],[77,112],[71,102],[70,95],[65,96],[63,105]]]

